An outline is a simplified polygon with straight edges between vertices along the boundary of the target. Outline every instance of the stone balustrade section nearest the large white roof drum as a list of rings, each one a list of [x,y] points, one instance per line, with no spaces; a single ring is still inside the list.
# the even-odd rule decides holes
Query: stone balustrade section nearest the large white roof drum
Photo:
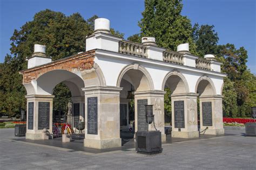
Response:
[[[122,40],[119,42],[119,53],[130,54],[147,58],[146,46]]]

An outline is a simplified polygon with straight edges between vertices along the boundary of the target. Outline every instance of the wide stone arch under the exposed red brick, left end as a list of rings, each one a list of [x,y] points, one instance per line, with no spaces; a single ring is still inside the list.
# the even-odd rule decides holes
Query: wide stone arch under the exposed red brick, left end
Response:
[[[34,75],[33,79],[31,75]],[[55,67],[45,69],[45,67],[43,67],[35,71],[28,71],[28,73],[25,73],[23,76],[23,85],[28,95],[51,95],[52,89],[60,82],[64,82],[68,87],[71,86],[71,93],[73,92],[73,94],[76,95],[78,95],[78,93],[83,95],[81,88],[85,86],[106,85],[105,77],[97,63],[93,65],[93,68],[85,70],[71,68],[56,69]]]

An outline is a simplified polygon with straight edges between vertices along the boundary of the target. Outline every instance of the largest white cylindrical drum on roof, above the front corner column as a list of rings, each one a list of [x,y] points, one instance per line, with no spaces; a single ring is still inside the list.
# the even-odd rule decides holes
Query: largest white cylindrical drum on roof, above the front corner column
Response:
[[[94,21],[94,31],[95,32],[110,32],[110,20],[106,18],[97,18]]]

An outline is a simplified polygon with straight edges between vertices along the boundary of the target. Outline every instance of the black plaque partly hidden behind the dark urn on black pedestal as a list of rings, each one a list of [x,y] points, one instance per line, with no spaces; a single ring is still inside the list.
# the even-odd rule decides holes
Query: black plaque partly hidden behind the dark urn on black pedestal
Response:
[[[147,131],[149,125],[146,122],[146,107],[147,99],[137,100],[137,111],[138,111],[138,131]]]

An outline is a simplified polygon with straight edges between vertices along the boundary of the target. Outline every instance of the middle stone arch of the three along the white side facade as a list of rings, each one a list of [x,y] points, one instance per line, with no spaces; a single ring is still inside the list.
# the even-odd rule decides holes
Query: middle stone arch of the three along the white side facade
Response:
[[[172,77],[173,80],[176,79],[176,81],[172,81],[172,87],[170,87],[172,91],[176,91],[176,93],[190,93],[185,76],[176,70],[166,74],[162,83],[162,90],[164,90],[167,80],[169,80],[169,78],[172,79]],[[179,88],[179,90],[177,88]]]

